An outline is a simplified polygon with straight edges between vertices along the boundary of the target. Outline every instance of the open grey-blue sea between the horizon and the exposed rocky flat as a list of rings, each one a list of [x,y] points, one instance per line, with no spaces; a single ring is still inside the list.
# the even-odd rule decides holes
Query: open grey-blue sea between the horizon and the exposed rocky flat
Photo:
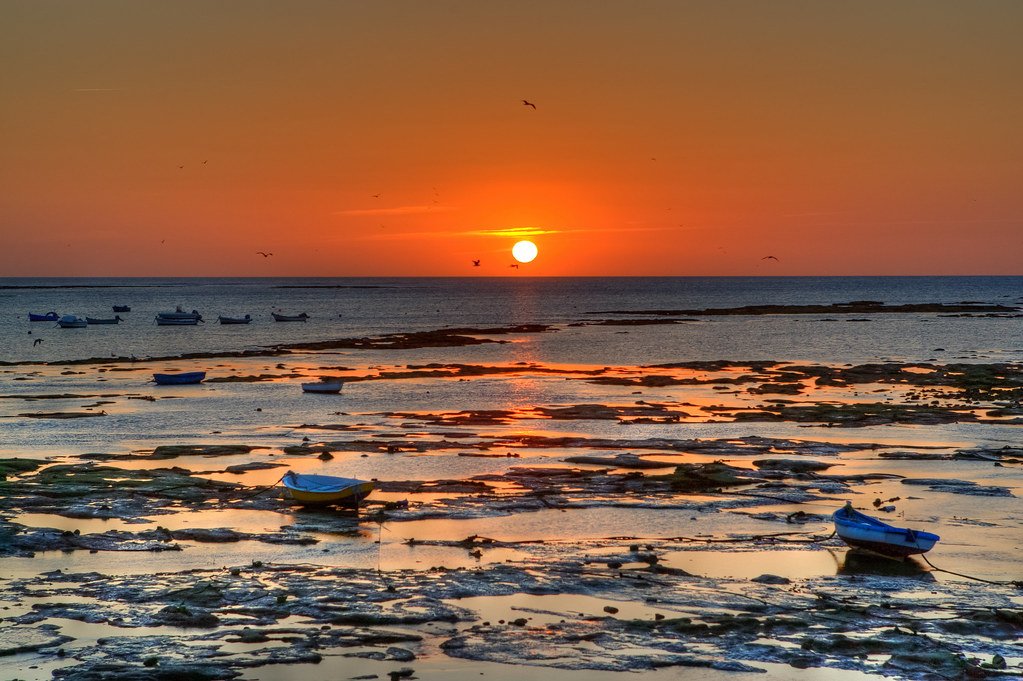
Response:
[[[1021,305],[1021,297],[1023,277],[0,279],[0,361],[142,358],[452,326],[569,324],[608,318],[601,314],[608,310],[857,300]],[[122,313],[126,322],[116,326],[60,329],[28,319],[30,312],[51,310],[112,317],[115,305],[132,309]],[[207,323],[154,324],[157,312],[178,305],[198,310]],[[275,323],[270,312],[277,310],[307,312],[311,318],[304,324]],[[255,318],[252,324],[216,323],[218,315],[246,314]],[[847,317],[710,317],[681,325],[567,327],[538,338],[530,359],[578,364],[1023,359],[1020,319],[895,314],[851,322]],[[836,318],[839,321],[827,320]],[[37,338],[43,343],[34,344]],[[442,349],[425,354],[443,358],[446,353]]]

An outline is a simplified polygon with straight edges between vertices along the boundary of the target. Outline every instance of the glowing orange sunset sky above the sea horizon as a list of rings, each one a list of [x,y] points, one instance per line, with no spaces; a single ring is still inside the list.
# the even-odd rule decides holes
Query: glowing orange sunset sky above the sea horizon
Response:
[[[0,276],[1023,274],[1021,35],[1016,0],[0,0]]]

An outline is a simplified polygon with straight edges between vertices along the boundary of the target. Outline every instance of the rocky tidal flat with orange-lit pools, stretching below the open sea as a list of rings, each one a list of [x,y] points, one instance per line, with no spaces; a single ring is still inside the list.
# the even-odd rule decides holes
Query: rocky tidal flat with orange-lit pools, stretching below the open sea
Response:
[[[8,363],[0,676],[1023,676],[1015,351],[635,361],[717,323],[655,312]],[[286,470],[376,491],[302,508]],[[850,550],[846,501],[941,541]]]

